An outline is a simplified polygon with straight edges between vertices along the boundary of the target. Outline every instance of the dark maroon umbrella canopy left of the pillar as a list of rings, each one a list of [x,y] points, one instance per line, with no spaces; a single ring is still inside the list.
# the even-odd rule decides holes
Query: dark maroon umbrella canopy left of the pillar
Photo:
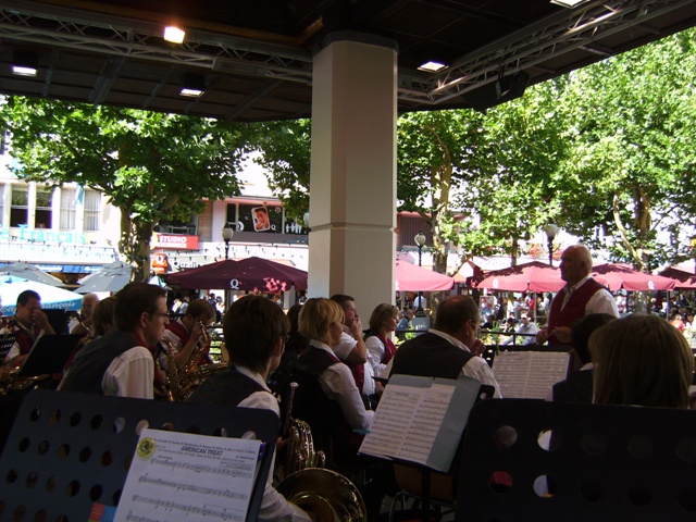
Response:
[[[182,288],[286,291],[307,289],[307,272],[261,258],[232,259],[170,274],[170,285]]]

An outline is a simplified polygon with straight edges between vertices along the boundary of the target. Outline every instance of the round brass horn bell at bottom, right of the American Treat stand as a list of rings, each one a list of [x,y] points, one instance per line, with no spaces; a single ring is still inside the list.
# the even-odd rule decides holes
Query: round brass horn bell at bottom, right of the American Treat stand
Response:
[[[277,487],[289,502],[319,522],[366,522],[368,512],[360,492],[335,471],[308,468],[293,473]]]

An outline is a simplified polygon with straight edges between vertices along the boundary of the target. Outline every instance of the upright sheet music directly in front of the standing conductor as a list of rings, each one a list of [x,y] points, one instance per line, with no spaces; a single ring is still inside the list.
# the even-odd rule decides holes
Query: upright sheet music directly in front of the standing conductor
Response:
[[[506,399],[546,399],[551,386],[566,378],[569,364],[564,351],[501,351],[493,373]]]

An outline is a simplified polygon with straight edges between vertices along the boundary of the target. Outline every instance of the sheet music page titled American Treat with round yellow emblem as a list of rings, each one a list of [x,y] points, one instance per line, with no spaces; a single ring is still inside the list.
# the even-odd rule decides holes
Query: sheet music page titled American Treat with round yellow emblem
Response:
[[[116,522],[244,521],[260,440],[144,430]]]

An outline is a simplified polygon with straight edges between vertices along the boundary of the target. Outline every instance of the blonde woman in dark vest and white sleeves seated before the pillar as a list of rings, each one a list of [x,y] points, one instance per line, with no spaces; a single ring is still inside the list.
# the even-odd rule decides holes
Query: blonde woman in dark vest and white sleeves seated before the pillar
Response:
[[[300,311],[299,331],[310,339],[295,363],[298,383],[294,417],[309,423],[319,449],[330,450],[335,462],[353,463],[374,412],[365,410],[350,369],[332,351],[344,332],[344,311],[331,299],[309,299]]]

